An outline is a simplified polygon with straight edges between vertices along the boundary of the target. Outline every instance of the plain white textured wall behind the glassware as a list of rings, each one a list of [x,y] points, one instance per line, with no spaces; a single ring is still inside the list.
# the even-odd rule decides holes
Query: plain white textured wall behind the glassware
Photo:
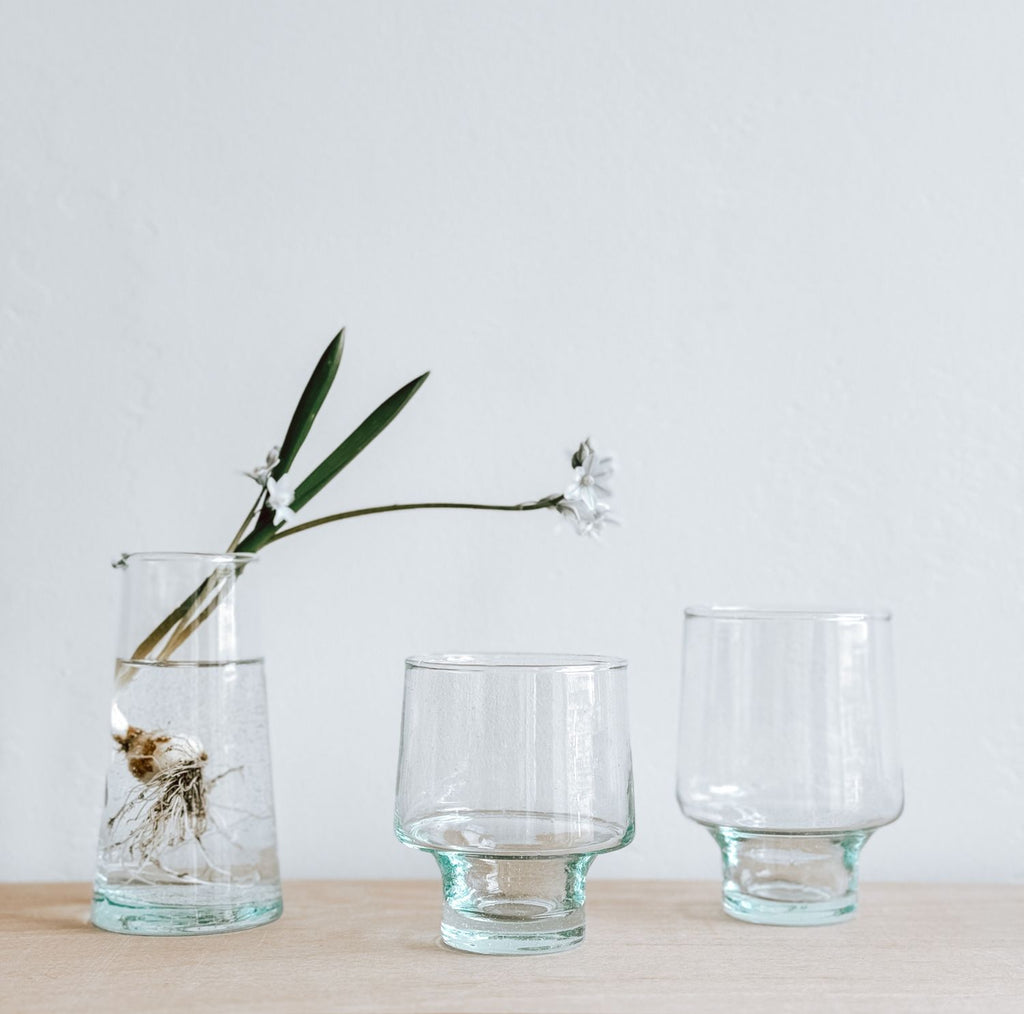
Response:
[[[87,878],[124,549],[220,548],[337,327],[316,506],[560,489],[628,526],[420,514],[272,547],[286,875],[391,835],[402,659],[631,663],[673,797],[689,602],[895,610],[907,809],[864,876],[1024,880],[1024,10],[1014,3],[35,3],[0,32],[0,876]]]

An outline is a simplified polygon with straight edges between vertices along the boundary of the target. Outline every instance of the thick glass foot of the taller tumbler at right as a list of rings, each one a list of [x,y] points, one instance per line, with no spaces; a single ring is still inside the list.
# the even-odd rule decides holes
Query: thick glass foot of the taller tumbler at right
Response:
[[[857,859],[869,831],[757,834],[712,828],[722,849],[722,906],[773,926],[823,926],[857,911]]]

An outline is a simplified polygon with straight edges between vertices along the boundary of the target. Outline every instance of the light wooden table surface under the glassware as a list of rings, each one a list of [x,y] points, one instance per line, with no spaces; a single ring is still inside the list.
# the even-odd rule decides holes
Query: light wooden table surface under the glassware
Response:
[[[1024,1012],[1024,887],[869,884],[852,922],[751,926],[718,885],[588,885],[587,939],[497,958],[438,940],[440,884],[307,881],[280,922],[131,937],[81,884],[0,885],[0,1011]]]

